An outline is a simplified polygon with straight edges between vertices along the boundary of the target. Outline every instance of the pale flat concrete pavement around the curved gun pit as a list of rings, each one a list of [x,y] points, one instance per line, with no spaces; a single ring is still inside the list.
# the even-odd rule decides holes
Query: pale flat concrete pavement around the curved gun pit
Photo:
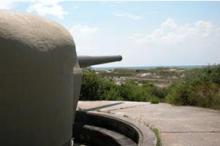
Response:
[[[218,110],[119,101],[80,101],[78,108],[125,116],[156,127],[163,146],[220,146]]]

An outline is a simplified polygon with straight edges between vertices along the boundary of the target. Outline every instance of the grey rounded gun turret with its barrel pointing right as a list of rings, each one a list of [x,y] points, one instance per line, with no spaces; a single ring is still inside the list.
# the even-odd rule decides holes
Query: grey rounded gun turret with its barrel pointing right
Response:
[[[0,144],[70,146],[81,67],[121,59],[77,57],[59,24],[0,11]]]

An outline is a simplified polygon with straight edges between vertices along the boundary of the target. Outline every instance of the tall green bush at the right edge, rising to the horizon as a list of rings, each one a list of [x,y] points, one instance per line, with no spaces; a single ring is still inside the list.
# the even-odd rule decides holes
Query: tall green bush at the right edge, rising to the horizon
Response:
[[[166,101],[177,105],[220,108],[220,66],[190,70],[170,86]]]

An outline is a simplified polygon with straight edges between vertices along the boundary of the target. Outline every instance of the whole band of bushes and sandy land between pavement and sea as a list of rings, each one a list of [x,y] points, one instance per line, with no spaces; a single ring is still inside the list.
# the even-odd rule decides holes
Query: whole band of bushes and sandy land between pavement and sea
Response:
[[[220,109],[220,65],[111,72],[88,69],[83,72],[80,100],[168,102]]]

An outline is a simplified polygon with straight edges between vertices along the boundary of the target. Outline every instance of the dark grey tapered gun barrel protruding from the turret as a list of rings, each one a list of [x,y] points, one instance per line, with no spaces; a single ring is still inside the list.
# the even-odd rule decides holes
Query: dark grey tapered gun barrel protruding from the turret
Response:
[[[109,62],[115,62],[115,61],[121,61],[122,56],[116,55],[116,56],[79,56],[79,66],[80,67],[88,67],[92,65],[98,65],[103,63],[109,63]]]

